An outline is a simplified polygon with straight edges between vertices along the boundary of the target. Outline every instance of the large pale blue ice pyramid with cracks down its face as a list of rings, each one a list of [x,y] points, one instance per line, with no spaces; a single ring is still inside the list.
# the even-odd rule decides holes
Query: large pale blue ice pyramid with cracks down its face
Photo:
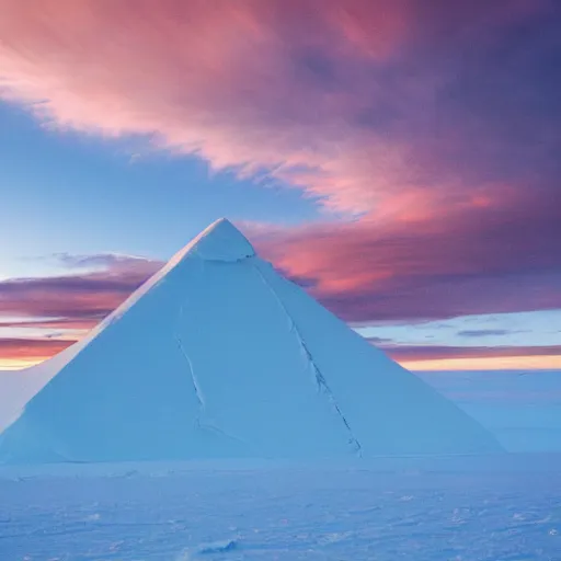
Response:
[[[226,219],[39,366],[53,378],[0,437],[3,461],[499,450]]]

